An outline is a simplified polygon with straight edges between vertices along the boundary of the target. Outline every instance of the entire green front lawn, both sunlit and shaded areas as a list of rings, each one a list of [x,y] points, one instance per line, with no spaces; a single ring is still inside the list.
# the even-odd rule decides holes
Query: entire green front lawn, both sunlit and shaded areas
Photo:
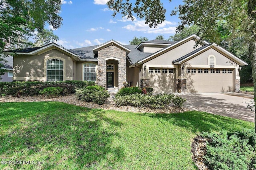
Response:
[[[173,114],[88,109],[60,102],[0,103],[0,169],[195,170],[191,141],[202,131],[254,128],[199,111]]]

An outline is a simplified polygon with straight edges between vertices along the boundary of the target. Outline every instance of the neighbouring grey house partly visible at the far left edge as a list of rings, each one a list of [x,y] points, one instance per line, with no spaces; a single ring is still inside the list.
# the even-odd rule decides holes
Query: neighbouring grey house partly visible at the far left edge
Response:
[[[0,82],[12,82],[12,76],[13,76],[13,68],[12,68],[12,62],[13,62],[13,57],[12,56],[7,56],[4,57],[4,62],[0,62],[3,66],[1,69],[4,69],[4,75],[1,76],[2,79],[0,79]]]

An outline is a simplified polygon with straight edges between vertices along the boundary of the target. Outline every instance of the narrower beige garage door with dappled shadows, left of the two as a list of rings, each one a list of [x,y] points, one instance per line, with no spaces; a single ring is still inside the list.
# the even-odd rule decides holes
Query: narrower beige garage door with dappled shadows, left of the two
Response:
[[[175,92],[175,68],[149,68],[148,77],[153,93]]]

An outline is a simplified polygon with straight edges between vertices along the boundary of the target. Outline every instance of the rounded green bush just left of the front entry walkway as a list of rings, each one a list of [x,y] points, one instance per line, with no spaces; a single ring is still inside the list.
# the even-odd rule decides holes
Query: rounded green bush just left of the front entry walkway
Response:
[[[109,96],[110,95],[105,88],[97,85],[76,89],[76,98],[85,102],[104,104]]]

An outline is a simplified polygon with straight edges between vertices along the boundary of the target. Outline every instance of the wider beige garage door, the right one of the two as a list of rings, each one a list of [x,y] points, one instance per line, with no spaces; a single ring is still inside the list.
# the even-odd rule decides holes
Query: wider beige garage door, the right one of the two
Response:
[[[187,92],[233,92],[232,69],[187,68]]]

